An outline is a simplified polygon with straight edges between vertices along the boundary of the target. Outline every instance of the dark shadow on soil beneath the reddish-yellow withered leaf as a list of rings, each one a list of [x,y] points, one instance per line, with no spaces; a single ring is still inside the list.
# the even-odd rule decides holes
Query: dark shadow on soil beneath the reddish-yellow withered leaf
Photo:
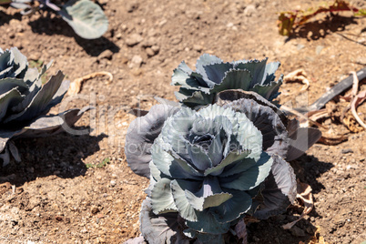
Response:
[[[341,15],[327,15],[323,20],[315,20],[295,28],[293,33],[289,36],[287,41],[296,38],[305,38],[308,40],[318,40],[325,38],[331,33],[341,32],[346,29],[347,25],[358,23],[357,17],[341,16]]]

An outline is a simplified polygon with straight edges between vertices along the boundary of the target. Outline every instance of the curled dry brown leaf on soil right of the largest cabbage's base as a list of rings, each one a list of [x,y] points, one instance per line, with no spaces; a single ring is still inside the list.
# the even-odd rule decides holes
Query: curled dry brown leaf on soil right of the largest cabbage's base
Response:
[[[300,221],[300,219],[304,218],[305,215],[310,213],[311,209],[314,207],[311,191],[312,188],[310,187],[310,185],[302,183],[298,180],[298,194],[296,195],[296,198],[300,199],[305,208],[302,211],[299,219],[296,219],[295,221],[283,225],[282,226],[283,229],[291,229],[297,222]]]

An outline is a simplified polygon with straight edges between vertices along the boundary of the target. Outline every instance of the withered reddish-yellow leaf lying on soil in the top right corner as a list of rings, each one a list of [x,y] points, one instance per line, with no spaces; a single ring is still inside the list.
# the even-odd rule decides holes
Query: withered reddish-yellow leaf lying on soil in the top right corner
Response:
[[[307,23],[310,18],[320,13],[351,11],[354,15],[366,15],[366,9],[359,9],[347,1],[335,0],[332,4],[322,4],[307,10],[283,11],[279,14],[278,26],[281,36],[290,36],[293,30]]]

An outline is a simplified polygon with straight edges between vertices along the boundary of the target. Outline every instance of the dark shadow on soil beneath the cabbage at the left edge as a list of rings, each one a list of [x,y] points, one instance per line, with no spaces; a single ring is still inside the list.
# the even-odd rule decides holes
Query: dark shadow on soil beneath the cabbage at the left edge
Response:
[[[76,178],[86,174],[82,161],[95,154],[98,142],[107,135],[72,136],[61,133],[52,137],[22,138],[15,140],[22,158],[20,163],[10,162],[0,168],[0,184],[9,182],[16,187],[36,178],[56,175],[58,178]]]

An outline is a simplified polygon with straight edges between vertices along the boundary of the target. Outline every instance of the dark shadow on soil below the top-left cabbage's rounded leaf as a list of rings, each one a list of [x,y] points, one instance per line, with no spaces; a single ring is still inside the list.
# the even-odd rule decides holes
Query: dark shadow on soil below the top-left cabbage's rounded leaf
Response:
[[[119,47],[102,36],[97,39],[87,40],[77,36],[73,28],[66,23],[60,16],[51,17],[49,14],[40,16],[35,21],[28,23],[32,27],[32,31],[36,34],[46,34],[47,36],[63,35],[74,37],[76,43],[83,47],[89,56],[99,56],[102,52],[110,50],[116,54],[119,52]]]

